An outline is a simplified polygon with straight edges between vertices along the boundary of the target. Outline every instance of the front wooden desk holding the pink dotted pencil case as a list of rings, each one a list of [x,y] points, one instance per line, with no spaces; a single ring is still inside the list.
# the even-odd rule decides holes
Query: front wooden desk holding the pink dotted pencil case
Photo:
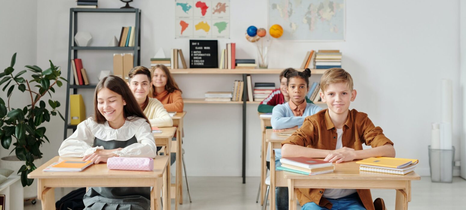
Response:
[[[109,170],[107,164],[94,164],[81,172],[43,172],[50,164],[63,160],[81,158],[55,157],[27,175],[37,179],[37,198],[42,201],[42,210],[55,209],[55,187],[152,187],[151,209],[158,210],[160,189],[169,157],[154,158],[153,171]],[[164,205],[165,206],[165,205]]]

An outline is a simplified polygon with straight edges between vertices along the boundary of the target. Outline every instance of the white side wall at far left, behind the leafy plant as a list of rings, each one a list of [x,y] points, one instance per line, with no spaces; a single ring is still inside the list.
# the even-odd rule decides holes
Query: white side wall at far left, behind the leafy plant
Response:
[[[21,11],[21,15],[18,15]],[[37,49],[37,2],[35,0],[8,0],[2,1],[0,7],[0,71],[10,66],[11,57],[16,54],[14,72],[24,70],[26,65],[36,64]],[[50,66],[50,64],[48,65]],[[27,79],[29,73],[23,74]],[[1,85],[3,88],[6,84]],[[0,91],[0,97],[7,102],[7,90]],[[26,92],[14,90],[14,97],[10,100],[12,108],[23,108],[25,103],[31,101]],[[13,143],[9,150],[0,147],[0,157],[7,156],[14,148]],[[14,155],[14,153],[13,153]]]

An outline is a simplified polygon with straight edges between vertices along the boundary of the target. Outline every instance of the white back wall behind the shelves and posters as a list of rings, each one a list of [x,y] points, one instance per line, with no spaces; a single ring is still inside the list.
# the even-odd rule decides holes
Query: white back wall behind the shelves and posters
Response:
[[[453,110],[460,113],[459,92],[459,1],[346,1],[345,42],[276,41],[269,67],[298,67],[310,49],[340,49],[343,67],[348,70],[358,91],[351,105],[369,114],[375,125],[395,143],[397,157],[418,158],[416,171],[429,174],[427,145],[430,124],[440,121],[440,79],[453,80]],[[69,7],[74,1],[41,0],[37,3],[37,62],[47,65],[52,59],[65,71],[68,65]],[[188,39],[174,39],[173,1],[135,1],[142,9],[141,64],[162,47],[188,52]],[[245,6],[247,5],[247,7]],[[100,8],[122,7],[115,0],[99,0]],[[219,39],[220,48],[237,44],[238,58],[256,58],[252,43],[244,39],[247,26],[266,27],[267,0],[231,0],[230,39]],[[432,15],[435,14],[435,15]],[[127,19],[127,20],[126,20]],[[3,20],[3,19],[2,19]],[[93,35],[92,46],[106,46],[119,36],[121,26],[133,25],[124,14],[82,14],[80,30]],[[21,47],[19,44],[12,46]],[[2,50],[3,52],[3,50]],[[85,68],[93,75],[112,69],[113,52],[80,52]],[[185,53],[186,54],[186,53]],[[4,63],[4,62],[2,62]],[[9,62],[7,62],[9,63]],[[185,98],[202,98],[206,91],[229,91],[240,75],[176,75]],[[317,80],[318,76],[311,78]],[[275,81],[277,75],[254,75],[253,82]],[[84,93],[87,112],[92,112],[92,91]],[[64,101],[65,89],[54,98]],[[62,103],[64,106],[64,102]],[[247,176],[259,176],[260,122],[257,105],[247,107]],[[63,110],[63,107],[62,107]],[[184,148],[190,176],[241,176],[240,105],[186,104]],[[64,111],[64,110],[63,110]],[[453,145],[459,148],[459,114],[453,117]],[[62,142],[63,122],[54,118],[48,127],[51,144],[43,153],[57,155]],[[457,152],[455,159],[459,159]]]

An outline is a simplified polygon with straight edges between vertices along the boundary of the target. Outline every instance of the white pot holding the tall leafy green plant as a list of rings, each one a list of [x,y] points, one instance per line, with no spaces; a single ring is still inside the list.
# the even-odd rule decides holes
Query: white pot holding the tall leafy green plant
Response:
[[[16,174],[18,170],[20,170],[21,166],[24,164],[26,164],[26,161],[21,161],[20,159],[16,158],[16,156],[8,156],[8,157],[3,157],[0,159],[0,167],[11,169],[14,171],[14,174]],[[35,158],[34,164],[36,167],[41,166],[42,159]],[[31,186],[24,187],[23,190],[24,190],[24,199],[36,198],[37,197],[37,180],[34,180]]]

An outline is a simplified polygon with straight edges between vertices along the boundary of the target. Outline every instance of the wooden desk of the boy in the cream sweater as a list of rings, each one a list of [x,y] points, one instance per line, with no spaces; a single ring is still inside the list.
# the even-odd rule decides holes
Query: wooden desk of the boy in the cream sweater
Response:
[[[164,156],[168,156],[168,162],[170,163],[170,150],[171,150],[171,138],[175,135],[176,127],[164,127],[159,128],[161,133],[154,133],[155,145],[164,146]],[[171,209],[171,199],[170,199],[170,164],[167,164],[165,174],[164,174],[164,188],[163,188],[163,198],[164,198],[164,210]]]

